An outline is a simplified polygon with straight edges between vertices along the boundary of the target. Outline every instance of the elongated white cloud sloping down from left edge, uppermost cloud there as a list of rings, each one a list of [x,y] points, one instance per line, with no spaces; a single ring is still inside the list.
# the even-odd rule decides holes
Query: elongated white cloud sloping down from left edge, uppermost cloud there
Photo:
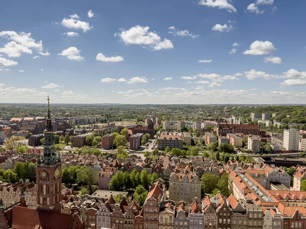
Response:
[[[42,50],[42,41],[36,42],[32,37],[31,33],[20,32],[17,34],[14,31],[2,31],[0,33],[0,37],[4,37],[6,39],[13,40],[27,48],[36,48],[38,50]]]

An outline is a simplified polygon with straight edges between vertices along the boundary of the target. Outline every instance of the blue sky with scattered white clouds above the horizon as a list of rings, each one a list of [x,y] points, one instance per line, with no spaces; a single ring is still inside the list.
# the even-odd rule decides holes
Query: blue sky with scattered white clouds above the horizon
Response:
[[[0,4],[0,103],[305,103],[306,1]]]

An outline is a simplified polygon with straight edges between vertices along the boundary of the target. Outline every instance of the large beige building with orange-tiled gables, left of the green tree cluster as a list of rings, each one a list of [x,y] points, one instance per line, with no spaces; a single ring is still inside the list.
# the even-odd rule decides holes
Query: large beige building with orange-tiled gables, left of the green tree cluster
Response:
[[[169,178],[169,199],[176,204],[181,201],[191,204],[194,197],[201,198],[201,179],[187,169],[175,170]]]

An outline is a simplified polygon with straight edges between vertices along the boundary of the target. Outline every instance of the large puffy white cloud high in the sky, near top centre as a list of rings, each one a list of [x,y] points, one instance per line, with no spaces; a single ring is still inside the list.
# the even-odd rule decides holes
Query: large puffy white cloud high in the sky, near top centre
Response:
[[[148,26],[136,25],[130,30],[122,30],[115,34],[119,36],[125,44],[139,44],[144,47],[150,47],[153,50],[171,49],[173,44],[170,40],[161,40],[161,37],[156,32],[149,31]]]

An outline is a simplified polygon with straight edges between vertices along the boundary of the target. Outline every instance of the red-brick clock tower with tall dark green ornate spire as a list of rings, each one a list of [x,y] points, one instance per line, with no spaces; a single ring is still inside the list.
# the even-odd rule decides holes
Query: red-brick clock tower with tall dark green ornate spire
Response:
[[[52,212],[61,212],[62,171],[61,158],[56,156],[50,104],[48,100],[48,118],[44,130],[43,157],[37,158],[36,186],[37,208]]]

